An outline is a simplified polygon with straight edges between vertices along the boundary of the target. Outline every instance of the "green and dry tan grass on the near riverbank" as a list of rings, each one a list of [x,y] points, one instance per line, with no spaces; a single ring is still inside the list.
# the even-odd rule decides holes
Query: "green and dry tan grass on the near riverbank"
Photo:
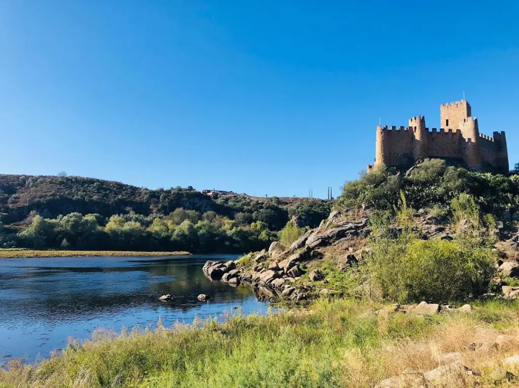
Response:
[[[519,354],[519,303],[493,301],[432,317],[365,314],[373,307],[321,300],[309,310],[222,324],[97,332],[48,361],[11,362],[0,371],[0,387],[367,388],[405,370],[432,370],[449,352],[460,352],[474,376],[437,386],[517,386],[492,371]],[[507,369],[519,374],[517,366]]]

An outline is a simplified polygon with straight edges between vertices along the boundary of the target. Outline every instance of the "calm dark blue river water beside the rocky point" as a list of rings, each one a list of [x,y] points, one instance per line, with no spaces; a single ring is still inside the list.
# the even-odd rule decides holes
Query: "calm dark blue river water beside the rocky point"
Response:
[[[226,313],[265,313],[247,288],[211,282],[207,260],[231,255],[66,257],[0,260],[0,364],[49,357],[67,338],[89,338],[96,328],[166,326]],[[209,303],[198,294],[212,296]],[[158,300],[171,294],[173,300]]]

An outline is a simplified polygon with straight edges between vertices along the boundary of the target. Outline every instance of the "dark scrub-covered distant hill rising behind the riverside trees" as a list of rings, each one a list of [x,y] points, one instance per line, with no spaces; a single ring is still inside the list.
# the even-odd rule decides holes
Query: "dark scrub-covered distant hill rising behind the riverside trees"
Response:
[[[327,203],[313,198],[209,196],[190,187],[149,190],[73,176],[0,175],[0,212],[5,225],[23,223],[31,211],[45,218],[72,212],[98,213],[108,218],[131,210],[147,216],[167,215],[176,208],[184,208],[200,213],[214,211],[231,219],[237,213],[250,221],[263,217],[272,230],[279,230],[292,215],[299,218],[302,226],[315,227],[329,212]]]

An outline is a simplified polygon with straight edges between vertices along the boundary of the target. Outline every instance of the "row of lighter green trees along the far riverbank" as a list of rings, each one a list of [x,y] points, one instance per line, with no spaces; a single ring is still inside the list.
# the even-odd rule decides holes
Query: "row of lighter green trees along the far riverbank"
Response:
[[[6,248],[121,251],[188,251],[242,253],[268,247],[276,234],[261,221],[240,224],[214,211],[176,209],[168,217],[142,214],[82,215],[55,219],[31,214],[28,228],[9,234],[2,226],[0,244]]]

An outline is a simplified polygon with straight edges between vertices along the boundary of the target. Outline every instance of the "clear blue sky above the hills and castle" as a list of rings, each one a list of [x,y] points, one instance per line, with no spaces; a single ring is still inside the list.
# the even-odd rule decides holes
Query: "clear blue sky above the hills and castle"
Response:
[[[0,172],[326,197],[373,162],[379,116],[439,126],[463,91],[513,165],[517,15],[516,0],[4,0]]]

